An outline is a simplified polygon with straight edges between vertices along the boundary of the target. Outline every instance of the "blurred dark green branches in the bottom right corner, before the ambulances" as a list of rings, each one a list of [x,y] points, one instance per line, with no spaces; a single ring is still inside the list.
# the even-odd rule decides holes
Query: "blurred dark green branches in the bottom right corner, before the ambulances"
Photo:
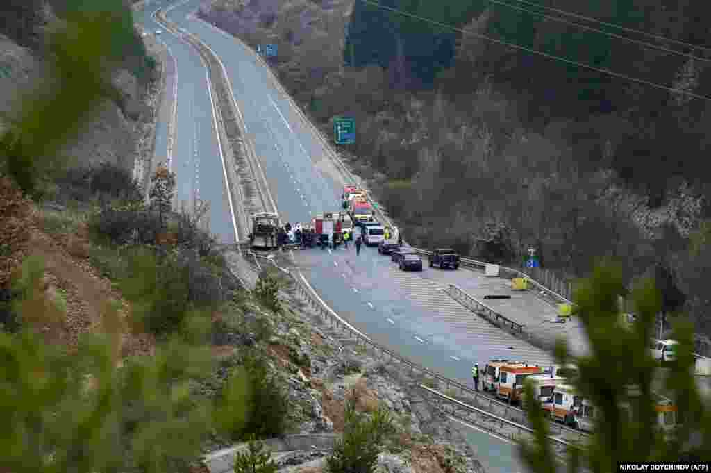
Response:
[[[557,363],[578,366],[579,377],[573,385],[598,411],[589,447],[570,449],[568,471],[578,472],[586,466],[595,473],[611,473],[617,471],[617,462],[707,459],[711,452],[711,410],[702,400],[693,375],[693,327],[685,321],[675,326],[673,338],[679,346],[677,359],[669,363],[665,395],[677,405],[682,423],[674,435],[665,437],[657,428],[653,395],[657,366],[648,350],[661,297],[653,280],[640,282],[634,291],[637,319],[625,326],[618,307],[622,294],[620,268],[611,262],[597,266],[592,277],[577,287],[574,298],[592,355],[572,356],[562,342],[556,347]],[[627,386],[636,386],[638,395],[630,396]],[[526,385],[525,395],[533,398],[532,386]],[[629,413],[623,405],[630,406]],[[528,417],[536,440],[522,445],[523,457],[533,472],[555,472],[555,453],[546,438],[550,427],[538,401],[529,403]]]

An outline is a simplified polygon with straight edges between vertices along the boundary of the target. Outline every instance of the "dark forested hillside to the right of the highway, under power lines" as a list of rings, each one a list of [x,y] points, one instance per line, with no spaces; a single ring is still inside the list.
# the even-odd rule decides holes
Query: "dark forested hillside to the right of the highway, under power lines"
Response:
[[[515,265],[535,245],[564,277],[613,255],[709,331],[708,260],[688,250],[709,216],[709,100],[673,92],[711,95],[706,4],[542,5],[215,0],[201,16],[276,43],[268,60],[328,136],[355,117],[343,151],[413,244]]]

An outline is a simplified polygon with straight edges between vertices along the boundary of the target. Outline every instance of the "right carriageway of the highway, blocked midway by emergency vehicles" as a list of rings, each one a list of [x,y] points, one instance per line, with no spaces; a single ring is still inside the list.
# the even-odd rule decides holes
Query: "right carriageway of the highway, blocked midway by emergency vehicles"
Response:
[[[235,38],[191,16],[198,1],[167,11],[180,28],[201,38],[220,57],[247,125],[248,139],[267,176],[282,221],[309,221],[338,208],[343,182],[328,166],[324,145],[277,90],[268,71]],[[445,376],[471,383],[472,363],[507,356],[550,364],[544,351],[515,339],[463,309],[420,275],[395,271],[375,248],[333,253],[296,252],[296,264],[341,316],[385,346]],[[424,274],[439,270],[426,268]],[[476,273],[458,272],[466,279]],[[533,299],[536,299],[533,297]]]

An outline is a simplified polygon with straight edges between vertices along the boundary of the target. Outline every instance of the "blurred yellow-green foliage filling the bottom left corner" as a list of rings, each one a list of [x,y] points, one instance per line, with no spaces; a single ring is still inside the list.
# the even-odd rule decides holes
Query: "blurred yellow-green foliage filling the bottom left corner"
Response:
[[[213,425],[242,429],[245,378],[230,381],[217,409],[191,397],[189,383],[211,372],[209,317],[180,317],[181,330],[154,356],[121,363],[127,327],[107,304],[102,333],[85,334],[68,349],[41,330],[63,319],[60,304],[41,291],[43,272],[41,260],[26,260],[17,282],[23,329],[0,331],[0,415],[9,420],[0,430],[0,470],[186,471]]]

